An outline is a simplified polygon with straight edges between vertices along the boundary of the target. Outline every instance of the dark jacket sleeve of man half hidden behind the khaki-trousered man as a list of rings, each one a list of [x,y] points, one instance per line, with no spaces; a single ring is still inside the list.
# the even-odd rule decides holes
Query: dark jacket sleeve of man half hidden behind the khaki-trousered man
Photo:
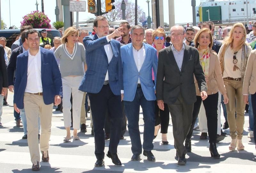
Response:
[[[7,73],[8,73],[8,85],[14,85],[15,80],[15,74],[14,71],[16,70],[16,61],[17,56],[23,53],[22,45],[14,50],[12,50],[12,54],[10,57],[10,61],[7,67]]]

